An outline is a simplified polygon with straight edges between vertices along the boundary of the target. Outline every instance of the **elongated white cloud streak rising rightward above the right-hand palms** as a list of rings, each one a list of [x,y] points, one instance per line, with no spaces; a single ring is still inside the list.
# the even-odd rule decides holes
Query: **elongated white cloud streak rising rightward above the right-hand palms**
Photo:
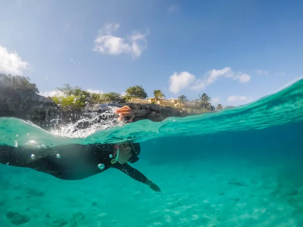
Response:
[[[250,76],[241,72],[234,72],[230,67],[225,67],[221,70],[210,70],[206,73],[205,79],[196,80],[195,84],[191,86],[192,90],[201,90],[207,86],[215,83],[219,77],[226,77],[233,80],[239,80],[240,83],[246,83],[250,80]]]

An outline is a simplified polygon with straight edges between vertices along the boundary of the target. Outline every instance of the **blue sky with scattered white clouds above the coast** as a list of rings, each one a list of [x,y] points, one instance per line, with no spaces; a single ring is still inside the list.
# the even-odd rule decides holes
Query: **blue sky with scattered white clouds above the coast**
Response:
[[[0,0],[0,72],[240,105],[303,75],[302,1]],[[46,92],[46,93],[45,93]]]

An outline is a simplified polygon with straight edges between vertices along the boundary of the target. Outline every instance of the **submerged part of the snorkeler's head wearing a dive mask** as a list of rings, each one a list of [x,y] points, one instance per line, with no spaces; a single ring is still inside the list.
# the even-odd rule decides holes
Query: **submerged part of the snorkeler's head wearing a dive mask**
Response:
[[[118,162],[120,164],[134,163],[139,160],[138,155],[141,152],[141,147],[139,143],[125,143],[119,145],[119,157]]]

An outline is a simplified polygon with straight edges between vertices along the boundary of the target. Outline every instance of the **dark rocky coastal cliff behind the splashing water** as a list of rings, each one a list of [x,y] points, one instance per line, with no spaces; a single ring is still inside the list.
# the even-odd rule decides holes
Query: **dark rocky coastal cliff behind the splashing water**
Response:
[[[157,104],[119,103],[129,105],[135,112],[133,121],[148,119],[160,122],[168,117],[184,117],[188,113],[182,109]],[[49,97],[41,96],[33,91],[12,89],[0,86],[0,117],[15,117],[47,130],[58,123],[77,122],[83,113],[97,111],[98,103],[88,104],[81,110],[63,111],[59,105]],[[56,121],[55,121],[56,120]]]

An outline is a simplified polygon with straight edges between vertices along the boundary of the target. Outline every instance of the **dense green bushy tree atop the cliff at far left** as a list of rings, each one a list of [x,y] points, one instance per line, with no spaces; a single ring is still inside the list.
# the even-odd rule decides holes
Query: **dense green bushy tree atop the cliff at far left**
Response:
[[[20,89],[39,93],[35,83],[30,83],[29,77],[11,74],[0,74],[0,85],[12,89]]]

